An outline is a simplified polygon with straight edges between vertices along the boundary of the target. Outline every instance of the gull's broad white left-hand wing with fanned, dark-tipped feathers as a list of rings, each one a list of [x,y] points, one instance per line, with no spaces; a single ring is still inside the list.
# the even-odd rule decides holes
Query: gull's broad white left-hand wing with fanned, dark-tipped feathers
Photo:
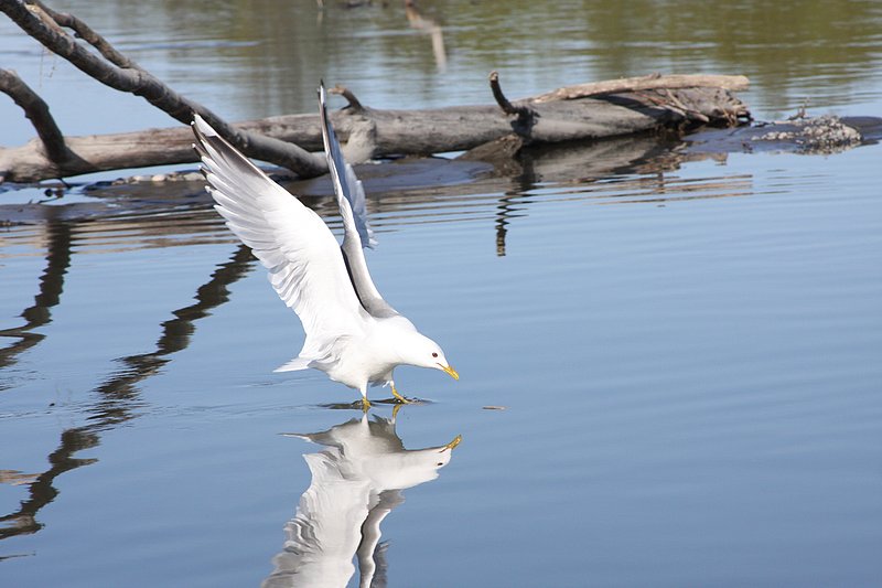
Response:
[[[198,115],[193,129],[215,209],[269,270],[272,287],[303,323],[306,342],[301,357],[311,359],[341,335],[362,332],[367,316],[324,221]]]

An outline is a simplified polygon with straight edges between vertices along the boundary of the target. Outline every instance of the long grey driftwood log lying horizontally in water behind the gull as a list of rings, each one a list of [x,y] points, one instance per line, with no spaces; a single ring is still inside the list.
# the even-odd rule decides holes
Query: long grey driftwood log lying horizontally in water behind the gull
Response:
[[[652,79],[657,84],[664,76]],[[699,82],[697,79],[696,84]],[[351,101],[349,106],[333,113],[332,120],[341,140],[345,141],[347,158],[355,163],[390,156],[464,151],[513,133],[530,143],[553,143],[703,124],[731,126],[749,116],[746,107],[730,90],[700,85],[674,89],[660,86],[552,101],[528,98],[515,101],[517,110],[513,113],[506,113],[499,105],[383,110],[365,107],[354,97]],[[308,151],[322,149],[318,115],[278,116],[232,127],[249,136],[295,143]],[[183,126],[65,137],[64,140],[74,157],[61,164],[47,157],[39,139],[18,148],[0,148],[0,178],[34,182],[96,171],[196,161],[191,147],[192,133]]]

